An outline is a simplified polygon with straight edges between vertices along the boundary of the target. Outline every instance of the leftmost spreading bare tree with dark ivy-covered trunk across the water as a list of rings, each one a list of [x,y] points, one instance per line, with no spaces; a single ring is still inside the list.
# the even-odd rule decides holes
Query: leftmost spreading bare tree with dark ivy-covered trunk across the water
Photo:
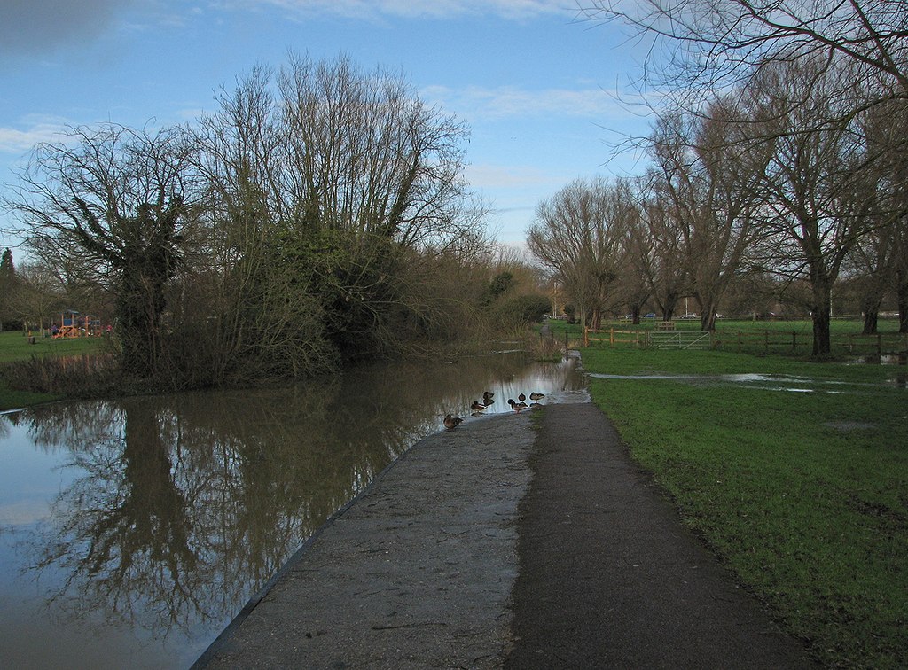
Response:
[[[164,290],[192,223],[188,157],[173,130],[73,128],[35,148],[7,202],[29,237],[78,253],[115,287],[123,370],[138,376],[163,356]]]

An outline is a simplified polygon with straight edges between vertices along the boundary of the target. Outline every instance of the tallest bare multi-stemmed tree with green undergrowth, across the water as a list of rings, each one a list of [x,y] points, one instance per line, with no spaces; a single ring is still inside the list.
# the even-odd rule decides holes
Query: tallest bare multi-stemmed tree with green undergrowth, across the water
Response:
[[[462,313],[433,276],[436,263],[484,246],[460,123],[400,74],[347,58],[291,56],[218,102],[196,143],[210,184],[220,369],[237,356],[295,369],[333,362],[331,349],[399,352]]]

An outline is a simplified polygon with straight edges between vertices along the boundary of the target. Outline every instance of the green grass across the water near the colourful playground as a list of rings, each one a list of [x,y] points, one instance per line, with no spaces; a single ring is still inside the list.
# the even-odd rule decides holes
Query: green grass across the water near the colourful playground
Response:
[[[2,374],[3,366],[44,358],[63,358],[104,351],[109,344],[104,338],[71,338],[54,340],[35,336],[35,344],[21,331],[0,332],[0,411],[37,405],[63,398],[63,394],[38,393],[9,387]]]

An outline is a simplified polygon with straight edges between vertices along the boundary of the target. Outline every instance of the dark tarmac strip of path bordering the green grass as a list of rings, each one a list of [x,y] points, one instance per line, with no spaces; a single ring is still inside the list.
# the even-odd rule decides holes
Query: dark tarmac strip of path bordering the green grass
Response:
[[[802,668],[593,404],[546,409],[520,506],[508,668]]]

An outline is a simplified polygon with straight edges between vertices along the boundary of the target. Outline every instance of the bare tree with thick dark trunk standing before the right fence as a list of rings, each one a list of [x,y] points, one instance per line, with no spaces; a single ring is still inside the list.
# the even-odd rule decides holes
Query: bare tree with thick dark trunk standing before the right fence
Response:
[[[756,113],[766,119],[757,132],[772,147],[763,180],[763,225],[776,242],[769,261],[776,271],[810,282],[815,356],[830,353],[832,287],[873,209],[854,125],[815,128],[818,118],[854,109],[857,92],[845,97],[842,74],[803,60],[761,70],[752,87]],[[812,83],[811,98],[792,105],[805,81]]]

